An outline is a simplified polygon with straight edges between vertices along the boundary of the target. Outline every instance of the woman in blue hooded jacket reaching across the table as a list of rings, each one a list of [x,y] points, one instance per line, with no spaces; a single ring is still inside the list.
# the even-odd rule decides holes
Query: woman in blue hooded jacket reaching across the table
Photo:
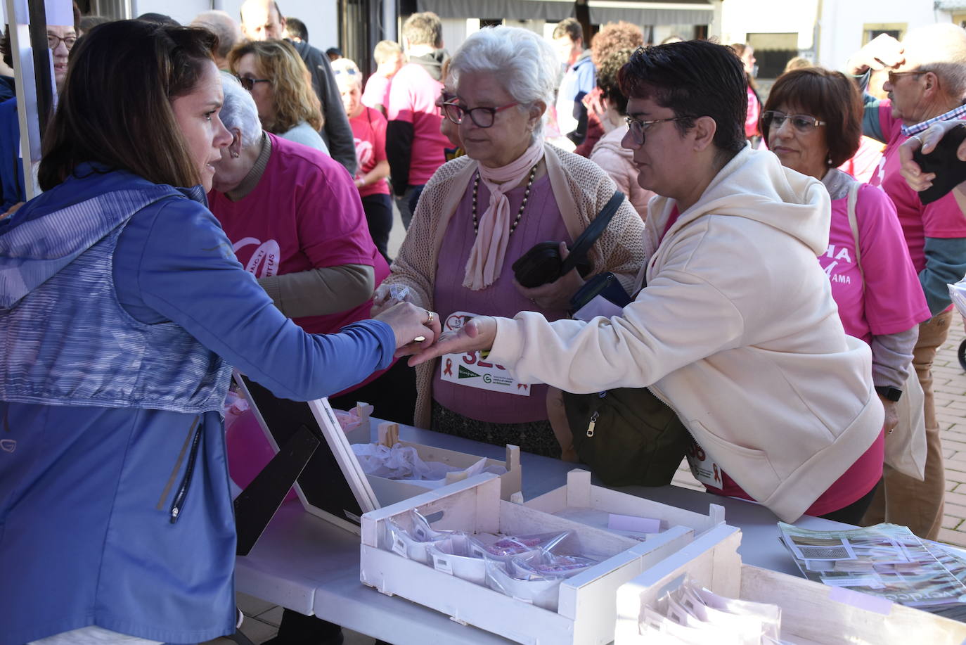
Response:
[[[0,222],[0,645],[231,633],[229,366],[306,400],[439,332],[406,305],[308,335],[241,268],[205,201],[231,140],[213,44],[95,28],[44,141],[45,192]]]

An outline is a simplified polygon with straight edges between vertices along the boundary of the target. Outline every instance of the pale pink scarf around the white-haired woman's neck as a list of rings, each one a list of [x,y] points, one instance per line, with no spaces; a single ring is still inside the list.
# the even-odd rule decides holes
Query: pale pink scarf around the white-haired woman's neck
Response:
[[[507,165],[488,168],[482,163],[478,164],[480,179],[490,191],[490,205],[479,218],[476,241],[469,251],[467,274],[463,279],[463,286],[468,289],[485,289],[499,278],[512,223],[510,200],[504,192],[513,190],[526,179],[530,169],[543,159],[543,155],[544,142],[538,139],[523,155]]]

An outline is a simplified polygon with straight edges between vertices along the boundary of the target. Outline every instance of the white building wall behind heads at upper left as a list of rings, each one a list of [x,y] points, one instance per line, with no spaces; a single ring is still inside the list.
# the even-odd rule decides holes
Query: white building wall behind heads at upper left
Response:
[[[235,19],[243,0],[131,0],[135,14],[148,12],[170,15],[182,24],[187,24],[195,15],[209,9],[221,9]],[[339,17],[336,0],[279,0],[285,15],[294,15],[308,28],[308,40],[312,45],[325,51],[338,45]]]

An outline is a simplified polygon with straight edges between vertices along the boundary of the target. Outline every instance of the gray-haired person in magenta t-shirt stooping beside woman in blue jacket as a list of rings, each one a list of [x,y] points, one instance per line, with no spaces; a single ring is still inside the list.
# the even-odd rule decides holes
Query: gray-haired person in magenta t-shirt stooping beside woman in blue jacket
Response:
[[[208,200],[241,265],[306,332],[328,334],[368,318],[373,289],[389,268],[353,180],[325,153],[264,132],[251,95],[231,74],[221,76],[220,115],[232,142],[214,164]],[[377,392],[355,398],[377,378]],[[412,370],[399,364],[329,401],[343,409],[356,400],[378,403],[382,418],[412,423],[413,396]]]

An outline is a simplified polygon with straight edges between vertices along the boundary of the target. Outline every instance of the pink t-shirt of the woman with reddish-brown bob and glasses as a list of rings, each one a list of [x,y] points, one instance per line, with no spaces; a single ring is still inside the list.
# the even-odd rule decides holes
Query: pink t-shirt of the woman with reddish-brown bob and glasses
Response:
[[[870,342],[872,336],[912,329],[930,313],[892,201],[883,191],[863,185],[855,210],[865,288],[855,261],[847,196],[832,202],[829,248],[818,256],[818,263],[832,282],[845,333]]]

